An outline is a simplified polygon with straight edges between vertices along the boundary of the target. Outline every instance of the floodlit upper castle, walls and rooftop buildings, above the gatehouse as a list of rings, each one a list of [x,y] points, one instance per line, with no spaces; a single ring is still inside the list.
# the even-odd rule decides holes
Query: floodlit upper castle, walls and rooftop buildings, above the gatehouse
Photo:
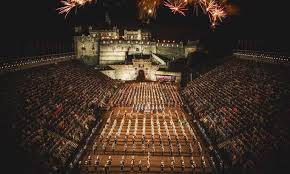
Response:
[[[168,62],[186,58],[196,50],[196,43],[184,45],[175,41],[154,41],[150,32],[141,29],[124,30],[121,35],[116,27],[109,30],[89,28],[89,34],[75,36],[77,57],[95,65],[125,63],[134,55],[149,55]]]

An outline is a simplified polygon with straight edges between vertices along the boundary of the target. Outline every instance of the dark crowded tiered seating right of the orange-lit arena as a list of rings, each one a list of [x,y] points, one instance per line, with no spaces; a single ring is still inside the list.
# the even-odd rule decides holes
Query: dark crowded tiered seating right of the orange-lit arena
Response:
[[[289,74],[289,67],[281,65],[231,60],[190,82],[182,93],[230,161],[253,167],[265,151],[290,145],[289,128],[281,124],[287,118],[278,112],[289,108]]]

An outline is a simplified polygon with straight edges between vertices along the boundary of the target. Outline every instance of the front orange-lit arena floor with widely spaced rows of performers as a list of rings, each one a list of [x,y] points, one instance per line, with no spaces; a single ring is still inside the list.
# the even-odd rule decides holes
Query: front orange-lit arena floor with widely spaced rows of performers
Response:
[[[207,148],[190,124],[192,120],[181,107],[165,107],[162,112],[151,113],[137,112],[132,107],[113,107],[104,114],[102,120],[102,126],[96,132],[94,140],[89,144],[85,155],[81,159],[81,174],[160,173],[161,161],[164,162],[163,173],[192,173],[191,160],[195,163],[194,171],[196,173],[211,173]],[[189,127],[193,128],[192,132],[190,132]],[[162,138],[163,151],[158,129]],[[135,141],[133,140],[134,134]],[[178,139],[176,139],[176,134],[179,137]],[[187,141],[184,134],[188,137]],[[128,137],[127,141],[126,135]],[[145,139],[143,135],[145,135]],[[171,140],[168,139],[168,135]],[[117,142],[115,142],[115,139],[117,139]],[[135,142],[135,150],[133,141]],[[177,141],[181,147],[180,152]],[[125,145],[126,142],[127,146]],[[172,144],[172,152],[169,142]],[[115,144],[115,148],[113,148],[113,144]],[[110,161],[109,156],[111,156],[111,162],[108,162]],[[134,156],[134,160],[132,160],[132,156]],[[204,157],[205,167],[202,167],[202,156]],[[174,162],[172,162],[172,157],[174,157]],[[122,158],[123,165],[121,163]],[[182,158],[184,161],[183,168]],[[134,165],[132,164],[133,161]],[[140,161],[142,165],[139,164]],[[110,165],[105,167],[106,163],[110,163]]]

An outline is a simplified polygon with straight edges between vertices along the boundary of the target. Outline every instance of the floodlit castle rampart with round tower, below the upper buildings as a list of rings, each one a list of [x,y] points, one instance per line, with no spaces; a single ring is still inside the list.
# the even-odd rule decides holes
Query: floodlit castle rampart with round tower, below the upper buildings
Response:
[[[151,53],[161,55],[168,60],[185,58],[192,47],[184,47],[182,43],[156,43],[152,41],[98,40],[91,35],[75,37],[77,58],[88,64],[124,63],[127,55]]]

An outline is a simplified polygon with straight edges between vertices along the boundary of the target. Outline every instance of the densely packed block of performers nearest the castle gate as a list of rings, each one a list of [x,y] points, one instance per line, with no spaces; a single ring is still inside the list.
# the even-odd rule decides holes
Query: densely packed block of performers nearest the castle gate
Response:
[[[177,86],[164,83],[126,83],[112,97],[112,106],[132,106],[136,111],[163,111],[182,105]]]

